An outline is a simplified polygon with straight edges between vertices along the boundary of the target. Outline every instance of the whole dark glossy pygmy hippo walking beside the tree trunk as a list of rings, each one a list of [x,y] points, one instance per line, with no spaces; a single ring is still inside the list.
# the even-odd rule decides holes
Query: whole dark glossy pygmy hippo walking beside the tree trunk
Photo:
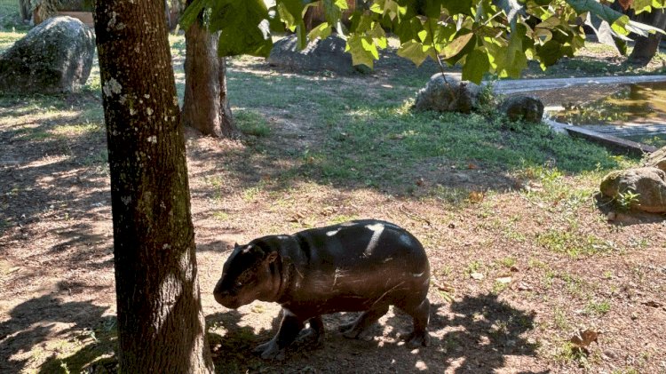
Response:
[[[430,265],[416,237],[392,223],[365,219],[235,244],[213,294],[234,309],[257,299],[280,303],[280,329],[256,351],[281,360],[305,322],[311,327],[305,335],[321,344],[321,314],[363,311],[341,326],[345,337],[359,338],[391,305],[413,318],[407,345],[427,346],[429,285]]]

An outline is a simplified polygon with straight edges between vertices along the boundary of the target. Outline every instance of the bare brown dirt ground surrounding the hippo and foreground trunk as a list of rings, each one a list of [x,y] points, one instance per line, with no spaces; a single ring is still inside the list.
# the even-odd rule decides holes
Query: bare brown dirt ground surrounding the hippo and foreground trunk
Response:
[[[373,89],[366,76],[345,79]],[[73,107],[97,100],[67,99]],[[557,179],[583,191],[572,200],[551,195],[554,187],[534,176],[472,165],[415,171],[418,178],[404,182],[411,194],[303,176],[285,185],[277,171],[307,160],[249,147],[302,151],[319,135],[303,117],[259,110],[272,118],[268,139],[186,133],[202,304],[218,372],[666,372],[664,216],[619,211],[609,220],[594,180]],[[99,129],[52,132],[77,115],[50,115],[21,99],[0,107],[0,372],[115,372],[106,139]],[[436,188],[464,202],[433,197]],[[361,340],[342,337],[336,326],[352,316],[335,314],[325,319],[323,346],[297,344],[284,362],[262,361],[252,348],[271,338],[279,306],[215,303],[227,248],[357,218],[395,222],[427,248],[432,345],[402,344],[411,322],[400,312],[391,310],[376,335]],[[567,254],[575,250],[584,253]],[[587,354],[568,343],[585,329],[599,333]]]

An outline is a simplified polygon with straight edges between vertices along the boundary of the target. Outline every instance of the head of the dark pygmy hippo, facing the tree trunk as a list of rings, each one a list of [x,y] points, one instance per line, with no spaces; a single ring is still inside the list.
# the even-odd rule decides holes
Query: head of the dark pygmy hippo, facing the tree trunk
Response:
[[[256,299],[269,301],[279,277],[272,264],[277,251],[258,240],[246,245],[234,245],[222,269],[222,277],[215,285],[213,295],[218,303],[235,309]],[[279,285],[279,283],[278,283]]]

